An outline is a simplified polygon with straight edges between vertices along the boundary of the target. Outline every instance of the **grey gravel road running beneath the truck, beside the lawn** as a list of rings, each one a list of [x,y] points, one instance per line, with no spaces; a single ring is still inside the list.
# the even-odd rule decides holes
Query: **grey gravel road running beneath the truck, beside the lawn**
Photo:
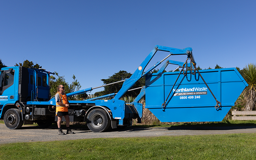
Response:
[[[162,135],[199,135],[199,134],[232,134],[256,133],[256,126],[222,126],[222,127],[160,127],[112,129],[104,133],[94,133],[88,128],[71,128],[75,134],[58,135],[58,129],[47,129],[38,126],[25,125],[21,129],[8,129],[0,124],[0,144],[15,142],[38,142],[54,140],[74,140],[87,138],[116,138],[116,137],[157,137]],[[66,130],[63,130],[66,132]]]

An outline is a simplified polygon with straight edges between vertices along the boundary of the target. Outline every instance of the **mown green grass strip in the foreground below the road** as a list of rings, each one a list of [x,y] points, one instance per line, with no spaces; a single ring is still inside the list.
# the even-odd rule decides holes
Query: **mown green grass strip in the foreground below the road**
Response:
[[[0,159],[256,159],[256,134],[96,138],[0,145]]]

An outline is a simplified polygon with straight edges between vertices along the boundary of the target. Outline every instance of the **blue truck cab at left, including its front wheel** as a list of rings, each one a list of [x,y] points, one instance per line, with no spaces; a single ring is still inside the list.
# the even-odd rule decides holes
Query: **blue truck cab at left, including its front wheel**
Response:
[[[8,128],[22,126],[26,120],[25,108],[30,108],[27,101],[48,101],[49,96],[49,74],[43,70],[22,66],[1,69],[0,119],[4,119]]]

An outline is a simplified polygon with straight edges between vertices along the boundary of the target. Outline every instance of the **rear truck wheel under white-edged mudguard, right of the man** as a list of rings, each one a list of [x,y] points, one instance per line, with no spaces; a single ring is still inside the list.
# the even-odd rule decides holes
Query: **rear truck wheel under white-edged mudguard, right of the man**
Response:
[[[106,111],[96,108],[88,114],[86,123],[92,132],[104,132],[110,127],[110,118]]]

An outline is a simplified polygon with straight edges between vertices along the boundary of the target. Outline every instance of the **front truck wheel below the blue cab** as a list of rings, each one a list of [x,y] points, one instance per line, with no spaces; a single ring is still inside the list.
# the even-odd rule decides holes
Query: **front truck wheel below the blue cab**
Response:
[[[24,121],[21,119],[21,112],[18,109],[9,109],[4,115],[5,126],[9,129],[19,129]]]

